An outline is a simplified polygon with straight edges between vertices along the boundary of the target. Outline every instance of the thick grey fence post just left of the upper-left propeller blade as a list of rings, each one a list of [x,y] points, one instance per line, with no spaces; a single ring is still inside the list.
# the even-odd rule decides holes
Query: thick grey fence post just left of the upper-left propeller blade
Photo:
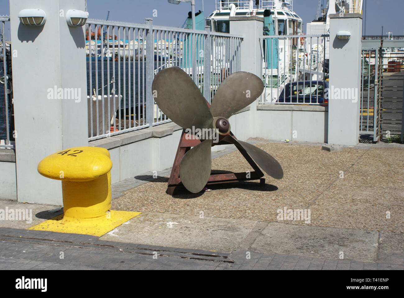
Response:
[[[154,78],[154,38],[153,38],[153,19],[145,19],[149,26],[146,34],[146,122],[149,127],[154,123],[154,98],[151,85]],[[143,115],[144,117],[144,115]]]

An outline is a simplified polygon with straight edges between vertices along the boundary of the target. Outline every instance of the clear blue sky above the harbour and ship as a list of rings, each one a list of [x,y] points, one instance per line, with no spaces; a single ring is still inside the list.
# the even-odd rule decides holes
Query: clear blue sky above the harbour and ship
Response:
[[[202,2],[204,2],[205,15],[209,15],[215,8],[215,0],[195,1],[196,10],[202,10]],[[305,24],[314,19],[318,1],[294,1],[294,10]],[[391,31],[394,35],[404,35],[404,0],[365,1],[367,2],[366,35],[380,35],[382,25],[384,26],[383,34]],[[175,27],[183,24],[188,11],[191,10],[189,3],[174,5],[167,0],[87,0],[87,5],[92,19],[105,19],[109,10],[110,20],[133,23],[143,23],[145,18],[153,17],[153,10],[157,9],[157,17],[153,17],[154,23]],[[8,0],[0,0],[0,15],[8,15],[8,13]],[[304,25],[303,28],[305,30],[306,26]]]

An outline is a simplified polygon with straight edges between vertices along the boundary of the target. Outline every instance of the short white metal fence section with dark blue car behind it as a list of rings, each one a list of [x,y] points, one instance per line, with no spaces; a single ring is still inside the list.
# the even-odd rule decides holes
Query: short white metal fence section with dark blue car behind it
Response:
[[[328,105],[328,35],[261,36],[260,104]]]

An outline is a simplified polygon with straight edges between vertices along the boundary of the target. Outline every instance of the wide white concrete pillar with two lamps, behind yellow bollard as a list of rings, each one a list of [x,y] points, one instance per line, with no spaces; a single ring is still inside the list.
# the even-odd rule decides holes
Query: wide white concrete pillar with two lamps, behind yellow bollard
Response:
[[[85,28],[66,22],[67,10],[84,7],[84,0],[10,0],[18,201],[62,204],[61,183],[38,174],[38,163],[88,145]],[[46,23],[21,24],[25,8],[44,10]]]

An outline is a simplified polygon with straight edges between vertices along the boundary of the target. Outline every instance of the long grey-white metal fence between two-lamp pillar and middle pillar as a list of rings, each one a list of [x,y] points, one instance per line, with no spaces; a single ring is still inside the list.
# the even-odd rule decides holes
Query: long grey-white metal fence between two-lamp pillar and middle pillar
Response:
[[[240,70],[238,36],[154,26],[151,19],[145,24],[101,20],[87,24],[90,141],[170,122],[150,88],[165,67],[181,67],[208,102],[221,80]]]

